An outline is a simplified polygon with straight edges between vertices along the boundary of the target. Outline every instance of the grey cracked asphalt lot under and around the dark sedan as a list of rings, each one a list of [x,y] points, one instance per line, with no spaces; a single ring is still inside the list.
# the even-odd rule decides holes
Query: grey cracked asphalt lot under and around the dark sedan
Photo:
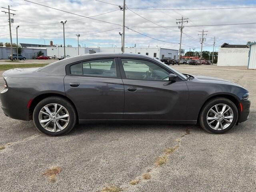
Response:
[[[174,68],[247,88],[250,119],[223,135],[190,125],[88,124],[66,136],[49,137],[40,134],[33,122],[13,120],[0,111],[0,146],[5,147],[0,150],[0,191],[98,192],[109,185],[128,192],[256,191],[256,71]],[[164,149],[174,146],[167,163],[155,166]],[[62,168],[56,182],[43,175],[51,166]],[[142,178],[146,172],[151,175],[148,180]],[[138,184],[129,184],[134,179]]]

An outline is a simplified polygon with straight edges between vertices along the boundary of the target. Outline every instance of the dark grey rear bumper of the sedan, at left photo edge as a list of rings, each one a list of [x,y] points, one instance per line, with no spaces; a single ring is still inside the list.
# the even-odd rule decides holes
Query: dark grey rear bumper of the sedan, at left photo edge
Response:
[[[4,114],[18,120],[29,120],[29,109],[27,108],[31,94],[8,88],[0,92],[0,100]]]

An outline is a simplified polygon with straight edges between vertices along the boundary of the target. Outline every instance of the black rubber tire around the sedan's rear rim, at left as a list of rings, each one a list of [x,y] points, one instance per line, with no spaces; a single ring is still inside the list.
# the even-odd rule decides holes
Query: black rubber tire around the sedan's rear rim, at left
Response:
[[[68,111],[68,114],[69,114],[69,122],[68,122],[68,125],[66,126],[66,128],[64,128],[63,130],[60,130],[58,132],[50,132],[46,129],[44,129],[40,122],[39,122],[39,112],[40,110],[46,106],[47,104],[52,104],[52,103],[56,103],[56,104],[60,104],[62,105],[64,108],[66,108],[66,110]],[[75,124],[76,124],[76,120],[77,120],[77,117],[76,117],[76,111],[74,109],[74,106],[66,99],[64,98],[61,98],[61,97],[57,97],[57,96],[52,96],[52,97],[48,97],[48,98],[44,98],[42,101],[40,101],[35,109],[34,109],[34,112],[33,112],[33,121],[34,121],[34,124],[36,126],[36,128],[44,133],[44,134],[47,134],[47,135],[50,135],[50,136],[62,136],[62,135],[65,135],[67,134],[68,132],[70,132]]]

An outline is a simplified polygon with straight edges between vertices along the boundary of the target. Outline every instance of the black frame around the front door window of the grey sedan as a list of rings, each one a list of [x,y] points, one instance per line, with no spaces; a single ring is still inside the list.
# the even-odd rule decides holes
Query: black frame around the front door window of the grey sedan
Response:
[[[169,68],[165,68],[161,64],[155,62],[154,60],[146,59],[146,58],[136,58],[136,57],[118,57],[118,64],[121,72],[121,77],[122,79],[128,79],[128,80],[139,80],[139,81],[161,81],[161,82],[168,82],[168,80],[146,80],[146,79],[131,79],[131,78],[126,78],[124,67],[122,65],[122,59],[133,59],[133,60],[143,60],[143,61],[148,61],[156,64],[160,68],[166,70],[169,73],[176,74],[173,71],[171,71]],[[177,75],[177,74],[176,74]],[[178,75],[177,75],[177,80],[176,81],[183,81]]]

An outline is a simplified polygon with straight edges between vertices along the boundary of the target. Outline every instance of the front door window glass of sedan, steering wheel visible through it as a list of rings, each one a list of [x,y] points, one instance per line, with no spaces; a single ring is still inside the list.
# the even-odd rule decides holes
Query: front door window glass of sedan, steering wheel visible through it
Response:
[[[168,80],[169,72],[145,60],[122,59],[125,76],[136,80]]]

